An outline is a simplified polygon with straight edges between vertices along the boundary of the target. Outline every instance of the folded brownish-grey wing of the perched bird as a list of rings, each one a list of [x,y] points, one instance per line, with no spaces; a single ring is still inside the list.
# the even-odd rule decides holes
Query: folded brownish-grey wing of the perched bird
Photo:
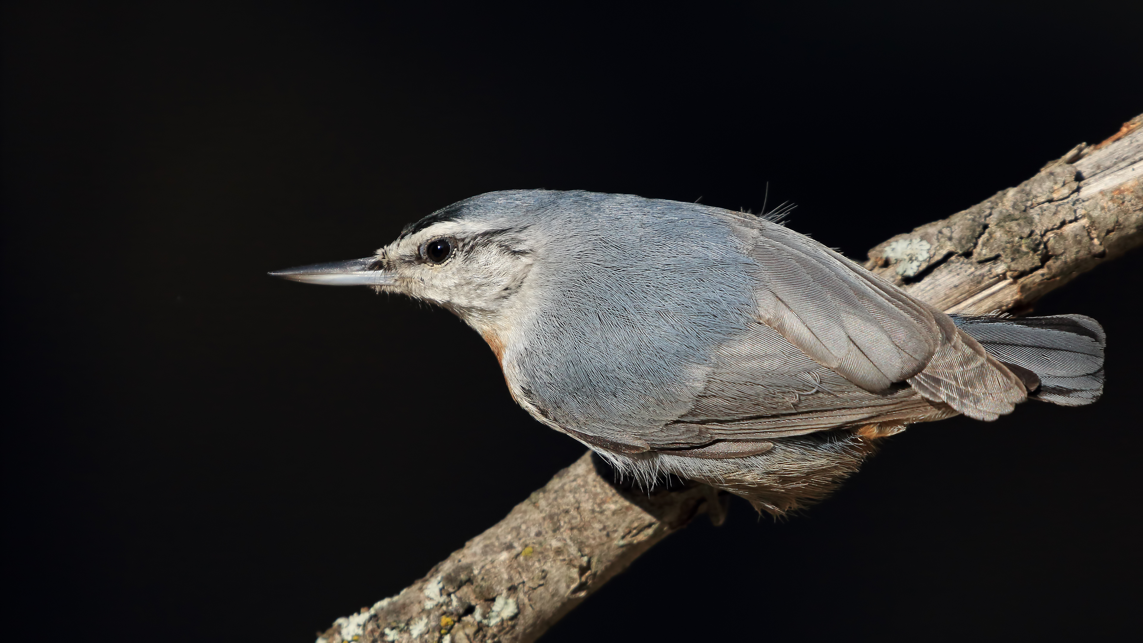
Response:
[[[942,312],[780,225],[746,222],[738,236],[756,263],[758,324],[719,347],[704,390],[652,448],[957,412],[991,420],[1023,400],[1018,378]]]

